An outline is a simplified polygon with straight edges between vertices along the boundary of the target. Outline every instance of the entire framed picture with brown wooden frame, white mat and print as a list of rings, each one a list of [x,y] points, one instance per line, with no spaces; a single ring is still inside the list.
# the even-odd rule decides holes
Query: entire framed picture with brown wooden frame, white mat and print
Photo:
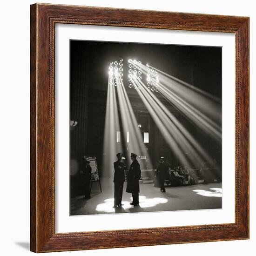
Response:
[[[249,18],[31,5],[31,251],[249,239]]]

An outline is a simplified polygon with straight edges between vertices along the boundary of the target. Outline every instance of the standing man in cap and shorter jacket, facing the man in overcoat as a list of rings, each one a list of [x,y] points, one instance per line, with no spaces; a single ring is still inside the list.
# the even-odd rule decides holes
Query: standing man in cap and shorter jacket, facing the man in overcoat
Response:
[[[114,207],[122,206],[122,195],[123,195],[123,182],[124,182],[124,170],[125,165],[122,160],[122,153],[116,154],[117,161],[114,162],[115,174],[114,174],[114,183],[115,183],[115,192],[114,192]]]

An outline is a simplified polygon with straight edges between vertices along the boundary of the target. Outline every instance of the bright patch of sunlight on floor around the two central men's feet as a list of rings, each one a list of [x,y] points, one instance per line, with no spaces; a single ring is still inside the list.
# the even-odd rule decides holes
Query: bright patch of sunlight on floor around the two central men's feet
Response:
[[[132,201],[132,197],[131,197],[131,201]],[[148,207],[154,207],[160,203],[167,203],[168,199],[161,198],[161,197],[147,198],[144,195],[140,195],[139,202],[140,202],[141,208],[148,208]],[[123,209],[134,208],[134,206],[130,205],[130,202],[128,202],[128,201],[122,201],[122,204],[123,204],[122,205]],[[100,203],[96,206],[96,211],[108,212],[108,213],[115,212],[115,208],[113,208],[113,205],[114,205],[114,198],[108,198],[108,199],[104,200],[103,203]]]

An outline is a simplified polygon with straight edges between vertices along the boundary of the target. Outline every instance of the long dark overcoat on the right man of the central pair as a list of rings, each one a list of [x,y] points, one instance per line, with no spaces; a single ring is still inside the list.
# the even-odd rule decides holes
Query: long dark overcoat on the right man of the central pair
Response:
[[[141,178],[140,164],[137,160],[134,160],[131,163],[130,168],[129,168],[126,192],[139,193],[140,192],[140,185],[139,185],[140,178]]]

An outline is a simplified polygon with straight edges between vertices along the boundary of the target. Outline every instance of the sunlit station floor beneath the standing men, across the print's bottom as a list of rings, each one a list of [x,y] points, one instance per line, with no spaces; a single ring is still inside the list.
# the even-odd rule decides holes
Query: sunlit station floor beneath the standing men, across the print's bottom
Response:
[[[102,178],[102,192],[99,182],[94,182],[90,199],[83,199],[83,196],[71,199],[70,215],[222,208],[222,183],[166,187],[166,193],[162,193],[160,188],[155,188],[153,183],[140,184],[139,206],[130,205],[131,194],[125,191],[126,185],[124,182],[122,208],[113,208],[113,178]]]

